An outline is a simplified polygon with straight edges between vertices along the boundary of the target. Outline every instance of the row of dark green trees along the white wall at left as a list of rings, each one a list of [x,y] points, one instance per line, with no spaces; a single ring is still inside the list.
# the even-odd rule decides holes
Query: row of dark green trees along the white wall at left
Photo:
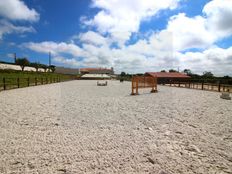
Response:
[[[55,72],[56,70],[55,65],[48,66],[45,64],[37,63],[37,62],[30,62],[27,58],[17,58],[15,60],[15,64],[19,65],[22,71],[24,71],[24,68],[26,66],[34,67],[36,69],[36,72],[38,72],[39,68],[44,69],[44,72],[47,72],[47,71]]]

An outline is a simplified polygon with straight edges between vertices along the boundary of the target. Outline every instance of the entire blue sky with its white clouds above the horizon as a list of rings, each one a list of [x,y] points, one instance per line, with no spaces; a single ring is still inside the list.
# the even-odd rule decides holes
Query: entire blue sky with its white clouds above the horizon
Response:
[[[232,75],[231,0],[0,0],[0,60]]]

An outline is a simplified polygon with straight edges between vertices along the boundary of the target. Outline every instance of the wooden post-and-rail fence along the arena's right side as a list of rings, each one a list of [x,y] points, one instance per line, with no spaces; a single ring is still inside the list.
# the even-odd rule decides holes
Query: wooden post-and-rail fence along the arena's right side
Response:
[[[190,88],[190,89],[207,90],[207,91],[232,92],[232,85],[221,84],[221,83],[169,82],[169,83],[163,83],[163,85]]]

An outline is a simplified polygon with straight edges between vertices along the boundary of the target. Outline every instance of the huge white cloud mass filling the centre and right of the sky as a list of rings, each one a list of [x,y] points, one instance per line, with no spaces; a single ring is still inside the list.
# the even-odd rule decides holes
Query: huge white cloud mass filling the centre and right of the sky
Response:
[[[216,75],[232,75],[232,47],[223,49],[214,45],[232,34],[231,23],[228,23],[232,8],[227,0],[210,1],[205,5],[203,15],[174,15],[165,29],[153,30],[145,39],[129,45],[125,45],[125,40],[130,38],[132,32],[139,31],[142,20],[154,16],[161,9],[175,8],[177,1],[153,4],[157,1],[136,0],[133,6],[130,0],[93,2],[93,7],[100,8],[99,13],[89,21],[86,18],[82,21],[96,26],[100,33],[88,31],[76,35],[72,39],[78,39],[79,46],[75,42],[31,42],[24,46],[41,53],[52,51],[55,61],[69,66],[113,66],[118,73],[143,73],[179,67],[182,70],[189,68],[195,73],[212,71]],[[121,47],[112,48],[114,41]],[[203,51],[186,52],[191,48]]]

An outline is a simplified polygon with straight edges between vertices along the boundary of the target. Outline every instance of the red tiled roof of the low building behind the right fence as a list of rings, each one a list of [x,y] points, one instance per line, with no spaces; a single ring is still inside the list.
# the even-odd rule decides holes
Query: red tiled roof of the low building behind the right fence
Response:
[[[146,72],[145,74],[157,78],[191,78],[190,76],[179,72]]]

